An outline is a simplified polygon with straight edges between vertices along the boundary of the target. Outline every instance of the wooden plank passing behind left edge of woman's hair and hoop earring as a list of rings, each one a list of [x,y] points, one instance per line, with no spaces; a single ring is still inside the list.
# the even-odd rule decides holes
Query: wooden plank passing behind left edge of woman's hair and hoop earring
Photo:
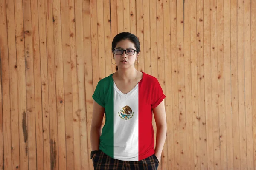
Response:
[[[110,0],[110,8],[111,8],[111,43],[113,41],[113,38],[116,36],[117,34],[117,11],[116,11],[116,0]],[[136,22],[136,20],[135,20]],[[113,58],[113,57],[112,57]],[[115,63],[114,60],[112,59],[111,60],[111,64],[112,64],[112,72],[116,72],[116,64],[113,64]]]

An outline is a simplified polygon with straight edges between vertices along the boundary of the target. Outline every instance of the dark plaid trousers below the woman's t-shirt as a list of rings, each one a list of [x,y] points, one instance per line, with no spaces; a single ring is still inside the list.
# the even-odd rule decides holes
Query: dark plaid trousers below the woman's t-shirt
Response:
[[[120,161],[99,150],[93,155],[94,170],[157,170],[159,162],[155,155],[140,161]]]

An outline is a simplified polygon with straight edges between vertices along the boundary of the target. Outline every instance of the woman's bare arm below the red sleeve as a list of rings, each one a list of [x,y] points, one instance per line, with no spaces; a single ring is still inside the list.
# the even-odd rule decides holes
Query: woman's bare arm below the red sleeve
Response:
[[[153,109],[154,119],[157,125],[157,141],[155,148],[155,155],[160,161],[163,145],[166,140],[167,123],[164,101],[162,101],[156,108]]]

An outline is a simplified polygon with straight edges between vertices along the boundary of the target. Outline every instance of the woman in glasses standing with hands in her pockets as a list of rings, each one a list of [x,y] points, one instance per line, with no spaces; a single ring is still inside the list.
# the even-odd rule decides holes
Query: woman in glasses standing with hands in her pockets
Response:
[[[100,80],[93,94],[94,169],[157,170],[166,139],[165,95],[155,77],[136,70],[140,42],[134,34],[117,34],[112,52],[117,71]],[[152,111],[157,125],[155,148]]]

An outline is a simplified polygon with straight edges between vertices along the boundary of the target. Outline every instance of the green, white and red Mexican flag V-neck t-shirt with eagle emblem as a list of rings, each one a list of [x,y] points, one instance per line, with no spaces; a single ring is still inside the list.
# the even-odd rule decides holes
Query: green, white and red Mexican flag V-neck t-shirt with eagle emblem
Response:
[[[165,95],[158,80],[143,72],[143,78],[123,94],[112,75],[98,82],[93,99],[105,108],[106,122],[99,149],[122,161],[139,161],[154,154],[152,109]]]

